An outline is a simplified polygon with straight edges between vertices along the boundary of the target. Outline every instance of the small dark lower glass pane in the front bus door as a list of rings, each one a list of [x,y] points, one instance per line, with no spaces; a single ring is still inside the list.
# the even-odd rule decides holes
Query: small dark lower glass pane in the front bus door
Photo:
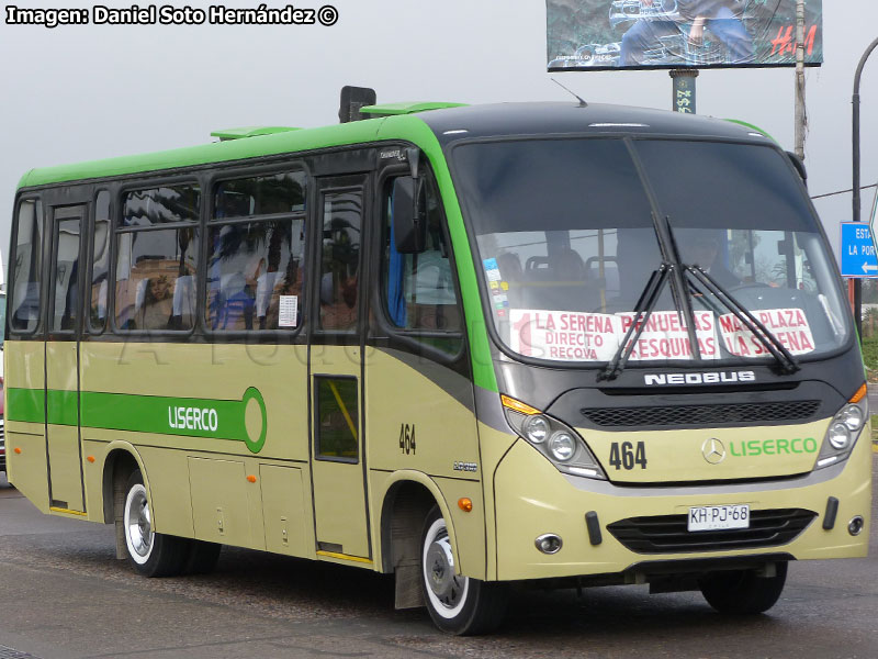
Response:
[[[317,457],[356,462],[360,457],[356,378],[314,378]]]

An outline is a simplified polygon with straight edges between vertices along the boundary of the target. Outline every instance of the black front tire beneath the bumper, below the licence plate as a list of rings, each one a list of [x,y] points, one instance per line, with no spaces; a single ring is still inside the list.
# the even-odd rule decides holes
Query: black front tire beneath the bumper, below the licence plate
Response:
[[[755,570],[711,572],[698,580],[708,604],[720,613],[754,615],[765,613],[780,597],[787,582],[787,563],[776,563],[774,577],[759,577]]]

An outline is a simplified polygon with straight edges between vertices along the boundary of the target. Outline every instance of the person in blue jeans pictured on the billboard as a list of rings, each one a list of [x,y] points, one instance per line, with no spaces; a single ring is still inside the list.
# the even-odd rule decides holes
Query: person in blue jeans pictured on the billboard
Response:
[[[725,46],[725,64],[746,64],[754,60],[753,37],[742,21],[744,4],[741,0],[641,0],[645,8],[673,11],[679,19],[643,18],[637,21],[622,36],[619,66],[648,64],[646,52],[655,48],[662,40],[684,33],[688,26],[690,45],[703,43],[705,31],[710,32]],[[684,53],[674,53],[685,58]]]

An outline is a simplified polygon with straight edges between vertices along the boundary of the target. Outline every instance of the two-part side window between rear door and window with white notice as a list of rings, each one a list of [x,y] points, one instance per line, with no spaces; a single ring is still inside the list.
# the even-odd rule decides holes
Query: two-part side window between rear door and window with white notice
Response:
[[[125,196],[122,227],[116,230],[119,330],[194,327],[199,244],[194,221],[200,201],[196,186],[154,188]],[[175,223],[180,226],[175,227]]]

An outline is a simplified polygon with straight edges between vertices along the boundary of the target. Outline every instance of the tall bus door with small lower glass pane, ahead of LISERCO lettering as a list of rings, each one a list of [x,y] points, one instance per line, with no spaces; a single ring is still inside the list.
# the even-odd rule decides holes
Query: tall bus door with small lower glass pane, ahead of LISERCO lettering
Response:
[[[317,554],[370,562],[361,405],[365,178],[323,179],[319,191],[309,357]]]

